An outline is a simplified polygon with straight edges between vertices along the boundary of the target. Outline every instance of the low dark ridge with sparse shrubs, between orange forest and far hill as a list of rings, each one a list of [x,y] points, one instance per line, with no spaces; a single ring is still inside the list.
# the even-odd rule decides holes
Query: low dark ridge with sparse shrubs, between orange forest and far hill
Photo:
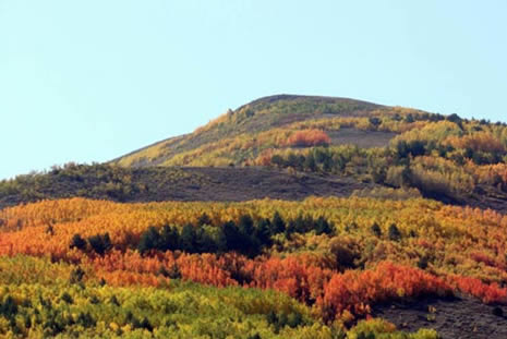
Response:
[[[67,197],[135,202],[244,202],[257,198],[300,201],[309,196],[350,196],[378,189],[353,179],[290,174],[268,168],[72,165],[47,173],[0,182],[0,209],[22,203]],[[390,194],[390,191],[389,191]],[[410,192],[400,192],[410,196]],[[413,193],[412,193],[413,194]],[[415,194],[415,196],[418,196]]]

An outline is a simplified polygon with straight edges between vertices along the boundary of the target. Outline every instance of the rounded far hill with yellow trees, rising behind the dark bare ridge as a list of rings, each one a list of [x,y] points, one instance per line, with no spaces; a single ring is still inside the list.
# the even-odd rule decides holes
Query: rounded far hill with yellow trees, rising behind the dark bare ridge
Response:
[[[114,164],[263,166],[415,187],[426,197],[467,204],[471,197],[505,199],[506,161],[504,123],[350,99],[275,96]]]

